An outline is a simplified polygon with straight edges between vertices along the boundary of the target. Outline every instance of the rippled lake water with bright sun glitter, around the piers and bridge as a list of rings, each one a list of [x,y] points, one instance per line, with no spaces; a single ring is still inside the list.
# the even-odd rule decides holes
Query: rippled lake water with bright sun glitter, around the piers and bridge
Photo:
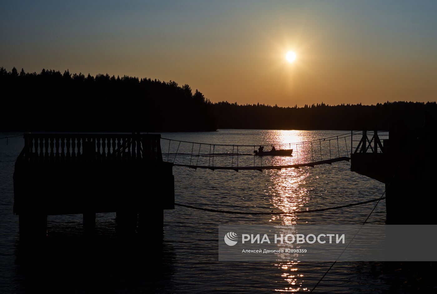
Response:
[[[188,142],[223,144],[280,144],[302,142],[347,133],[347,131],[280,131],[280,130],[219,130],[216,132],[163,133],[163,138]],[[0,137],[16,135],[0,133]],[[333,141],[334,143],[334,141]],[[0,141],[0,199],[1,199],[1,276],[0,292],[30,293],[38,288],[50,293],[272,293],[309,291],[326,272],[330,263],[292,262],[292,263],[241,263],[218,262],[218,226],[221,224],[266,225],[266,224],[360,224],[374,207],[375,203],[323,211],[309,214],[286,215],[235,215],[198,211],[176,207],[164,213],[164,259],[162,262],[148,259],[139,261],[135,269],[130,263],[123,263],[122,253],[113,252],[92,270],[84,264],[83,271],[69,270],[74,260],[67,258],[69,252],[62,252],[59,258],[49,258],[51,270],[39,273],[38,266],[24,266],[20,262],[18,243],[18,217],[13,209],[14,162],[23,147],[23,139],[10,138]],[[170,161],[177,147],[174,141],[162,141],[163,157]],[[346,156],[350,142],[333,146],[332,152]],[[293,148],[293,146],[291,146]],[[314,148],[319,146],[314,146]],[[191,156],[191,148],[198,154],[208,153],[209,145],[184,145],[177,150],[175,162],[184,163]],[[202,149],[203,148],[203,149]],[[205,149],[206,148],[206,149]],[[232,147],[215,150],[222,154],[215,158],[216,164],[236,164],[236,157],[223,156],[232,152]],[[294,147],[295,148],[295,147]],[[227,149],[227,150],[225,150]],[[252,148],[253,149],[253,148]],[[251,162],[253,152],[250,147],[238,150],[239,166]],[[170,152],[169,152],[170,151]],[[297,151],[299,152],[299,150]],[[167,154],[170,153],[170,154]],[[236,153],[236,150],[234,150]],[[245,155],[246,154],[246,155]],[[253,153],[252,153],[253,154]],[[314,156],[307,150],[306,155],[296,150],[293,157],[273,162],[274,164],[297,163],[303,156]],[[323,158],[329,158],[326,145],[323,145]],[[336,157],[336,155],[332,155]],[[193,159],[194,158],[194,159]],[[208,156],[193,157],[200,161]],[[261,159],[256,159],[257,165]],[[263,165],[268,165],[268,160]],[[175,176],[175,199],[177,203],[204,208],[230,211],[269,212],[327,208],[378,198],[384,192],[384,184],[350,171],[349,162],[303,167],[300,169],[239,171],[189,169],[173,167]],[[147,197],[159,197],[147,195]],[[151,208],[153,209],[153,208]],[[114,213],[97,215],[97,234],[102,239],[113,239]],[[381,201],[371,214],[368,223],[385,223],[385,201]],[[56,240],[81,238],[82,216],[49,216],[48,237]],[[128,250],[129,251],[129,250]],[[126,252],[128,253],[128,252]],[[45,253],[50,255],[49,253]],[[59,252],[57,252],[59,254]],[[117,255],[114,257],[114,255]],[[129,257],[132,258],[132,257]],[[70,263],[62,261],[68,259]],[[117,261],[112,262],[112,259]],[[121,262],[120,262],[121,260]],[[380,263],[340,262],[326,275],[317,287],[318,293],[381,293],[395,291],[401,282],[399,275],[382,273]],[[60,274],[68,273],[68,274]],[[34,276],[38,278],[35,279]],[[398,278],[396,278],[396,277]],[[68,290],[69,289],[69,290]],[[68,291],[67,291],[68,290]],[[399,289],[398,289],[399,290]]]

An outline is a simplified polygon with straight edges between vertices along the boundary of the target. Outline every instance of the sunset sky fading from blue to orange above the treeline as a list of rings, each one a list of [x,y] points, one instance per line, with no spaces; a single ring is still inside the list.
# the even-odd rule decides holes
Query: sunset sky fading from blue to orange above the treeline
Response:
[[[437,1],[0,3],[8,71],[173,80],[239,104],[437,96]]]

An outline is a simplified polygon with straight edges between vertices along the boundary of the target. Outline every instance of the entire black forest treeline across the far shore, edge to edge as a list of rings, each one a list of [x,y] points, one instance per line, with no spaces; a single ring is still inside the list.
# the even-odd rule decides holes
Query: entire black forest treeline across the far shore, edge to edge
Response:
[[[0,129],[9,131],[214,131],[388,129],[390,120],[437,117],[436,102],[278,107],[212,103],[187,84],[108,74],[0,68]]]

